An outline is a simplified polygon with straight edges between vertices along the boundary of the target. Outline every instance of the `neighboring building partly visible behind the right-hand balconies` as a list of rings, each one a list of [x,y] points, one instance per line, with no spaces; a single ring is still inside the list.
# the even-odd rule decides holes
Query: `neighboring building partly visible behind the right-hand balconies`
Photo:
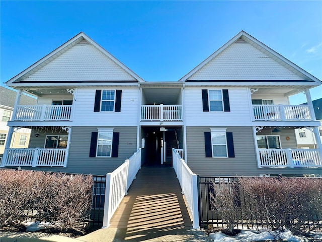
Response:
[[[304,105],[307,103],[303,103]],[[322,140],[322,98],[312,101],[315,118],[320,122],[318,127],[320,140]],[[301,127],[295,130],[297,147],[300,149],[316,149],[316,140],[311,128]]]

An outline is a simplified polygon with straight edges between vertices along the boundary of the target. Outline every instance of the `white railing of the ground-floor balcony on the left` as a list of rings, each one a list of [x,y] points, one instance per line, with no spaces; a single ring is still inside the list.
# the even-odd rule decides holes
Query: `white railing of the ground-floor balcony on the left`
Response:
[[[66,166],[67,149],[5,149],[1,166]]]

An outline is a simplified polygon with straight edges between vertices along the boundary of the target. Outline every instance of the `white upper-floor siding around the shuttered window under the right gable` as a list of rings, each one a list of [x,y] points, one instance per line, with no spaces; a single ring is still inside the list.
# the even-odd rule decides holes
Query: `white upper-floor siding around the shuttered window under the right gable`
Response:
[[[208,88],[227,89],[227,88]],[[249,90],[247,88],[229,88],[230,112],[209,111],[202,108],[201,88],[185,88],[185,124],[187,126],[250,126],[251,112]]]

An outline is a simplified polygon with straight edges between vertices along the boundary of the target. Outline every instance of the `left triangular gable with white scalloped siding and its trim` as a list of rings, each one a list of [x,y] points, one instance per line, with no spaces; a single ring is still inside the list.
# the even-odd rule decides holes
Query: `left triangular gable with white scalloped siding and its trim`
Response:
[[[81,32],[6,84],[19,86],[23,83],[95,81],[144,82],[112,54]]]

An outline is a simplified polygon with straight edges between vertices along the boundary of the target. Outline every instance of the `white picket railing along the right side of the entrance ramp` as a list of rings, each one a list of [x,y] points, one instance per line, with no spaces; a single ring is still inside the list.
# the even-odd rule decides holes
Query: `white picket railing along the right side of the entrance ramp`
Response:
[[[176,149],[172,149],[173,168],[177,174],[182,194],[185,195],[188,207],[193,217],[193,228],[199,227],[198,209],[198,176],[193,173],[185,160],[181,158]]]

